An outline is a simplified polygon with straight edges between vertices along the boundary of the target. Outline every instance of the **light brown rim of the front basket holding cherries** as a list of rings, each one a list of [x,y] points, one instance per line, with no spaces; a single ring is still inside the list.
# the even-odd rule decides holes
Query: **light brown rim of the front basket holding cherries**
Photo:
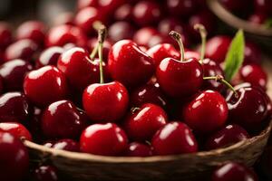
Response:
[[[24,146],[27,148],[31,148],[34,150],[38,150],[44,154],[44,157],[63,157],[63,158],[70,158],[73,160],[78,161],[92,161],[92,162],[99,162],[99,163],[153,163],[153,162],[165,162],[165,161],[173,161],[177,159],[183,159],[186,157],[207,157],[207,156],[214,156],[214,155],[221,155],[223,153],[232,151],[236,148],[247,146],[257,142],[261,138],[267,137],[270,134],[272,128],[272,119],[270,119],[269,124],[267,127],[263,129],[260,134],[255,137],[248,138],[238,143],[228,146],[227,148],[218,148],[209,151],[199,151],[196,153],[189,153],[189,154],[180,154],[180,155],[172,155],[172,156],[152,156],[152,157],[108,157],[108,156],[99,156],[99,155],[92,155],[89,153],[81,153],[81,152],[71,152],[65,151],[55,148],[47,148],[43,145],[36,144],[32,141],[23,140]]]

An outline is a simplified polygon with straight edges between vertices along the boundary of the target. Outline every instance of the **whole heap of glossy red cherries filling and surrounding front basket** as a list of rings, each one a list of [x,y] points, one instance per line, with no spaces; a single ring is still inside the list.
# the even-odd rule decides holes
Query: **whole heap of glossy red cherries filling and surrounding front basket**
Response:
[[[205,43],[211,21],[203,23],[202,14],[192,18],[201,1],[166,1],[174,17],[195,20],[189,32],[202,38],[200,53],[184,48],[191,42],[180,19],[161,21],[160,33],[153,26],[162,17],[157,1],[109,2],[80,0],[74,17],[48,31],[28,21],[14,36],[9,24],[0,23],[1,179],[20,180],[28,172],[22,139],[101,156],[151,157],[225,148],[267,125],[272,104],[260,50],[247,42],[243,66],[225,81],[231,38],[218,35]],[[110,25],[108,32],[103,24]],[[59,179],[46,162],[33,172],[36,180]],[[257,180],[233,162],[212,176],[249,178]]]

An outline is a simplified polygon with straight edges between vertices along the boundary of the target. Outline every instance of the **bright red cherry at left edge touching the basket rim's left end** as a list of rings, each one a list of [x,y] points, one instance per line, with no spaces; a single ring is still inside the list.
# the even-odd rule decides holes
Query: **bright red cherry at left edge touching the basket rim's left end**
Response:
[[[8,132],[16,138],[32,140],[30,132],[24,127],[24,125],[17,122],[1,122],[0,131]]]

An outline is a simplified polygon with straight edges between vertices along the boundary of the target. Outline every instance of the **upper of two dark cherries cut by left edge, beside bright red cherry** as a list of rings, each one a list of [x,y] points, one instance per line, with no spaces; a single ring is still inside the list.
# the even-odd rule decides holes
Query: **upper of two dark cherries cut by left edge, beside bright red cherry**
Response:
[[[20,59],[2,64],[0,66],[0,75],[3,78],[5,90],[23,90],[24,76],[32,69],[33,67],[29,62],[24,62]]]

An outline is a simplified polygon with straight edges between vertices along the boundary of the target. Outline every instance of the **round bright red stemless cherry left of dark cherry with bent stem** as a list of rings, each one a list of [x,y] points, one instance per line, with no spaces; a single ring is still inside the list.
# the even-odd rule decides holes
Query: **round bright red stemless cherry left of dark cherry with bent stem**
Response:
[[[213,90],[204,90],[184,107],[184,121],[199,134],[221,128],[228,119],[227,101]]]

